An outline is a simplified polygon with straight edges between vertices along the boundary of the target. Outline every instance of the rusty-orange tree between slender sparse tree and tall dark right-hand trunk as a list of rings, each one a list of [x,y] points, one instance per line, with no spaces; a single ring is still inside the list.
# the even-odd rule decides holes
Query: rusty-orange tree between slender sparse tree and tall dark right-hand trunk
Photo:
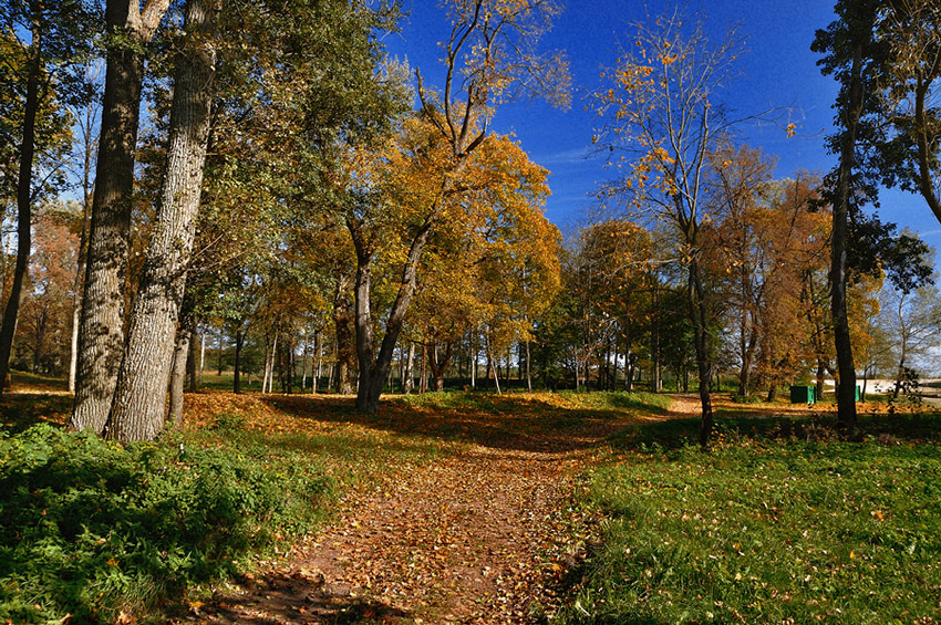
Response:
[[[827,264],[819,180],[772,181],[772,167],[761,150],[730,146],[711,156],[709,168],[706,201],[715,219],[706,256],[724,287],[742,396],[755,373],[773,396],[804,365],[810,332],[800,284],[806,272]]]

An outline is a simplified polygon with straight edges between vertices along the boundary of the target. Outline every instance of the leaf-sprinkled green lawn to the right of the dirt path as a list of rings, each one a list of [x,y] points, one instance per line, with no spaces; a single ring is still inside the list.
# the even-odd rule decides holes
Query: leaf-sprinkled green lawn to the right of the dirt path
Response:
[[[589,476],[607,520],[560,623],[941,618],[937,445],[720,439]]]

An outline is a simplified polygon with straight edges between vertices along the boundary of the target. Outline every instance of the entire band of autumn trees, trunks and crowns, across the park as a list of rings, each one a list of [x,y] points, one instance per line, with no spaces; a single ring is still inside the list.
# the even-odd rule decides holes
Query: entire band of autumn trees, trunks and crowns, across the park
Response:
[[[568,106],[549,0],[452,0],[442,63],[391,59],[397,3],[15,0],[0,9],[0,377],[69,374],[70,426],[178,423],[207,371],[266,392],[697,392],[910,376],[938,313],[928,247],[864,212],[938,208],[937,11],[838,2],[838,167],[774,179],[723,95],[740,53],[638,24],[589,106],[601,217],[563,241],[500,104]],[[143,123],[142,105],[148,114]],[[937,299],[937,298],[935,298]],[[880,312],[881,310],[881,312]],[[891,314],[889,311],[891,310]],[[205,381],[204,381],[205,382]],[[168,393],[167,393],[168,392]]]

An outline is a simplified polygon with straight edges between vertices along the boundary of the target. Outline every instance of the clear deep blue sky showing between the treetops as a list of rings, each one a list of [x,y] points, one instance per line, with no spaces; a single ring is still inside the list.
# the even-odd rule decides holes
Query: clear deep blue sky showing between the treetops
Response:
[[[442,74],[436,42],[449,32],[446,12],[435,0],[405,0],[409,17],[400,33],[385,38],[389,50],[421,67],[425,80],[436,85]],[[591,209],[592,191],[609,178],[602,159],[591,158],[590,142],[599,119],[585,111],[586,96],[602,85],[600,73],[613,65],[622,42],[630,40],[631,24],[666,12],[674,4],[651,0],[568,0],[554,30],[545,38],[546,49],[565,50],[571,64],[572,107],[554,110],[541,102],[500,106],[493,128],[514,133],[530,158],[551,171],[552,197],[546,215],[563,231],[582,222]],[[824,148],[833,129],[831,105],[837,86],[820,75],[810,42],[817,29],[834,19],[828,0],[693,0],[687,14],[702,20],[709,32],[721,38],[730,25],[738,25],[746,38],[738,58],[738,76],[730,84],[727,103],[742,114],[774,107],[793,107],[797,135],[787,138],[777,126],[752,126],[745,140],[777,157],[777,177],[797,170],[825,173],[835,158]],[[921,198],[886,191],[879,210],[883,219],[921,232],[924,240],[941,243],[941,225]]]

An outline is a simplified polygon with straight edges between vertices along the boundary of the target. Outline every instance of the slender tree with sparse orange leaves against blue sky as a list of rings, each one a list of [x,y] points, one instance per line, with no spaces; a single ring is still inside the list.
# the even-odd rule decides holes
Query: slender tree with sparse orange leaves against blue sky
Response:
[[[676,233],[674,254],[686,269],[686,294],[696,351],[702,404],[700,444],[713,426],[714,311],[703,274],[701,230],[710,219],[703,204],[709,155],[737,119],[720,101],[738,49],[734,31],[717,43],[702,24],[680,15],[638,27],[634,45],[603,77],[597,94],[603,126],[594,143],[618,162],[623,177],[603,192],[632,211],[645,211]]]

